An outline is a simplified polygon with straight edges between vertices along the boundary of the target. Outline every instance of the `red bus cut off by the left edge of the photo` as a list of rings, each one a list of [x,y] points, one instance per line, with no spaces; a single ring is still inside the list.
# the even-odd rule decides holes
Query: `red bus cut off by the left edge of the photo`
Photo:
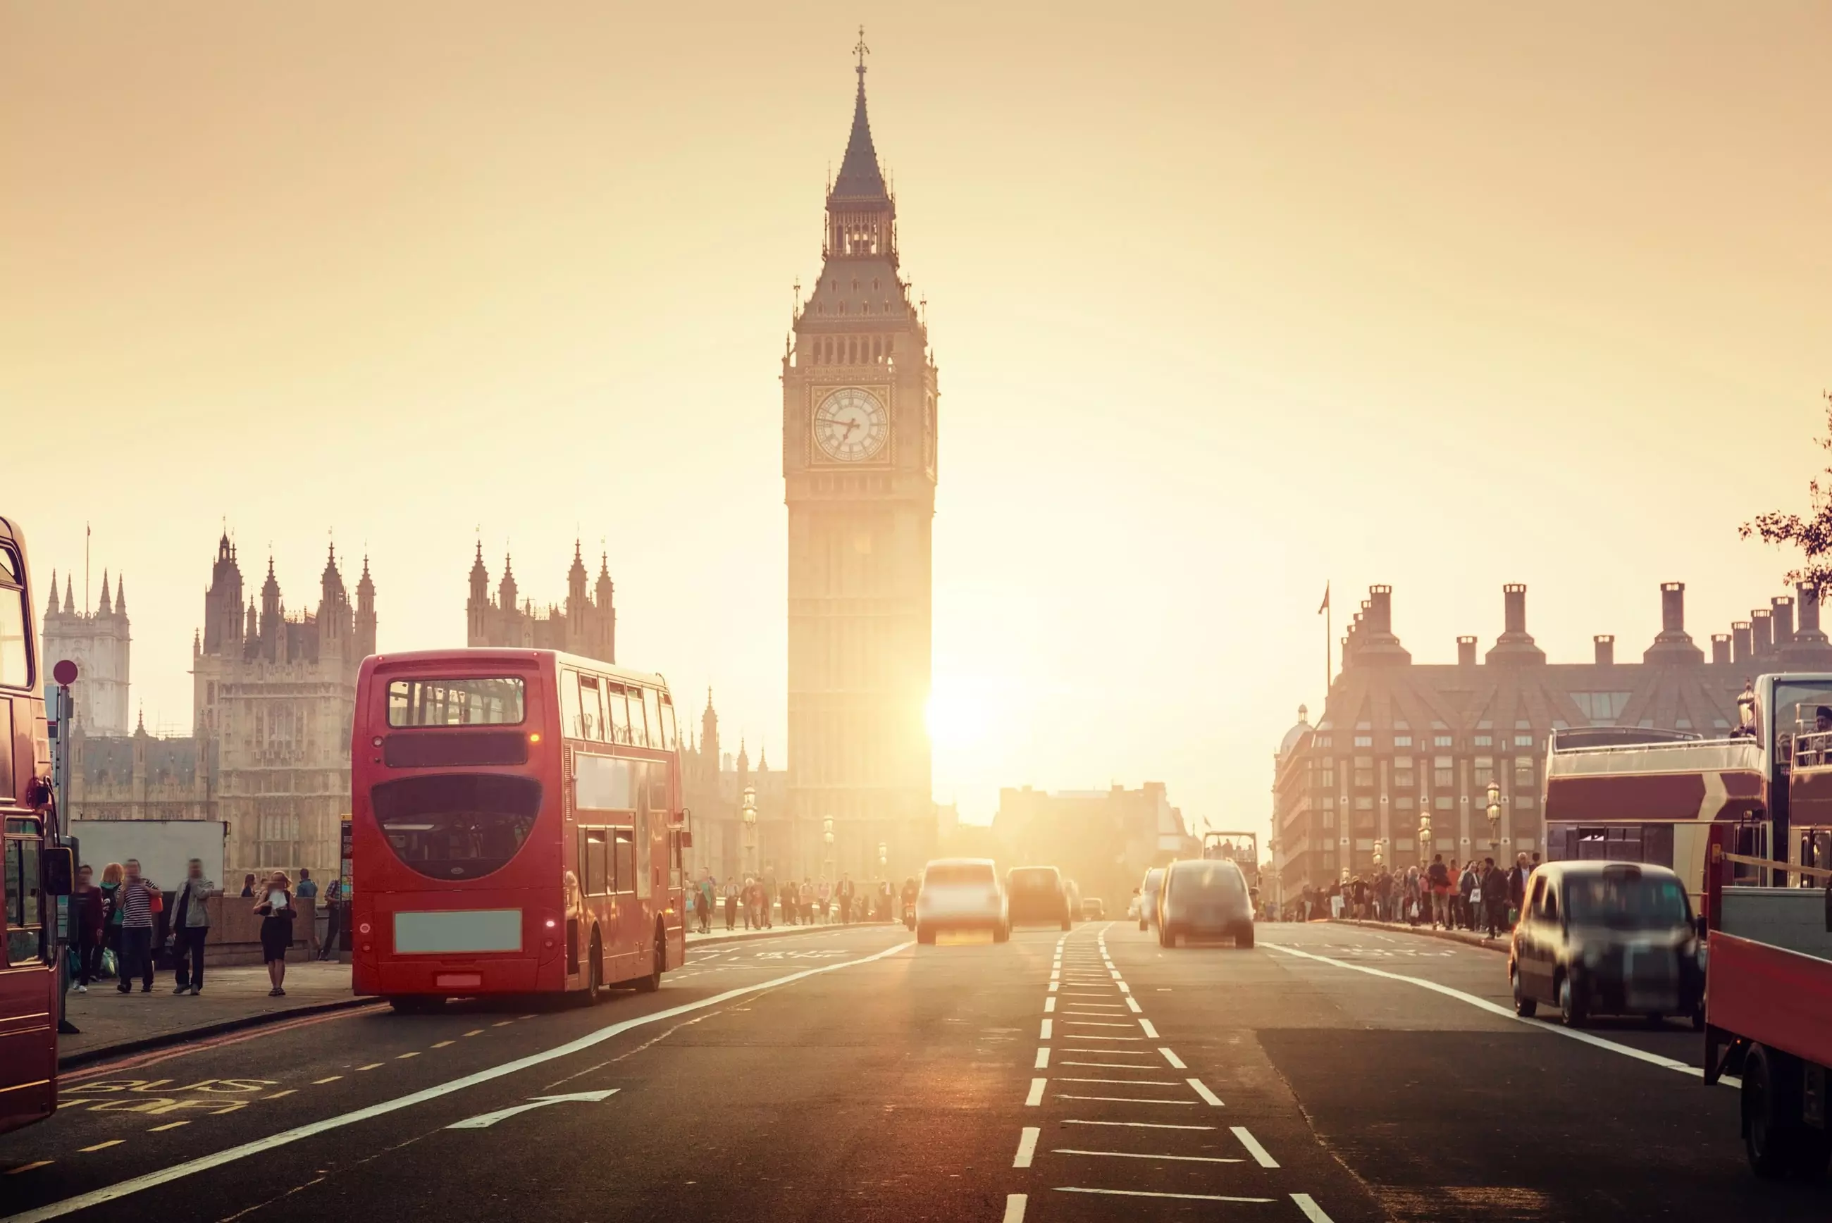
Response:
[[[57,848],[51,743],[38,694],[26,538],[0,518],[0,1133],[57,1108],[55,908],[70,892]]]

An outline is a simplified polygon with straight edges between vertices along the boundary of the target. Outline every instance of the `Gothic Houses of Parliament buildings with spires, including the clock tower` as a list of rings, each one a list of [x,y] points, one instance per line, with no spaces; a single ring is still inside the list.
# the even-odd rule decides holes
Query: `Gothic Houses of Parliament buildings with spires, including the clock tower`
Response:
[[[797,302],[780,364],[788,525],[788,767],[720,745],[711,692],[683,745],[694,868],[856,881],[920,870],[936,842],[929,736],[931,527],[940,395],[927,324],[900,264],[896,198],[878,161],[857,48],[852,126],[826,200],[821,275]],[[368,560],[348,593],[335,549],[315,610],[286,608],[273,558],[258,601],[218,540],[192,643],[192,732],[128,732],[128,621],[115,577],[93,612],[55,582],[48,657],[82,661],[75,818],[222,818],[231,871],[337,864],[350,809],[355,676],[376,650]],[[606,557],[575,544],[562,602],[526,597],[478,546],[469,646],[617,661]],[[416,644],[442,644],[436,641]],[[676,699],[685,707],[685,694]],[[740,818],[746,795],[757,826]]]

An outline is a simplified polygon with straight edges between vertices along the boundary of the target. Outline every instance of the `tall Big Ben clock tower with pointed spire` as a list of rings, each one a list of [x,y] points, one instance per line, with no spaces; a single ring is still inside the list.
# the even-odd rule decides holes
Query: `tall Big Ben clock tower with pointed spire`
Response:
[[[898,273],[896,200],[865,114],[863,31],[856,51],[821,278],[782,359],[793,853],[779,868],[865,884],[914,873],[934,848],[923,707],[936,370]]]

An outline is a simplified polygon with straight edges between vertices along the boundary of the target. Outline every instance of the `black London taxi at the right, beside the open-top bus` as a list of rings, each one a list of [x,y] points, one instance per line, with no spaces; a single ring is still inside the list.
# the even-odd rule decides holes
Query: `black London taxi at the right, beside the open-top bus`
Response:
[[[1669,1014],[1704,1023],[1704,945],[1685,884],[1645,862],[1546,862],[1526,881],[1508,950],[1513,1009],[1559,1007],[1566,1027],[1592,1014]]]

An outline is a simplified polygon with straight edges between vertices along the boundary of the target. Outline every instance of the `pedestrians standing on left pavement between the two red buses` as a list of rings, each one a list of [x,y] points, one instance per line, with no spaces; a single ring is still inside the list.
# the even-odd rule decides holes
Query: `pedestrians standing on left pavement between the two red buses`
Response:
[[[341,884],[333,881],[324,893],[326,904],[319,910],[328,912],[319,959],[335,954],[332,948],[339,925],[341,906],[335,903],[339,893]],[[170,901],[167,892],[145,875],[139,859],[108,862],[103,866],[101,882],[95,881],[93,866],[81,866],[70,897],[73,990],[88,994],[92,981],[114,976],[117,992],[130,994],[139,981],[139,992],[150,994],[154,965],[159,954],[167,952],[172,963],[172,992],[202,994],[203,948],[211,936],[209,901],[220,895],[224,890],[214,879],[205,877],[202,859],[191,859],[185,879]],[[253,901],[251,910],[260,917],[260,958],[267,965],[269,998],[286,996],[286,952],[295,937],[297,901],[317,897],[319,884],[306,868],[299,871],[297,886],[280,870],[260,882],[253,873],[242,881],[242,899]],[[159,914],[167,914],[163,945],[154,941]]]

